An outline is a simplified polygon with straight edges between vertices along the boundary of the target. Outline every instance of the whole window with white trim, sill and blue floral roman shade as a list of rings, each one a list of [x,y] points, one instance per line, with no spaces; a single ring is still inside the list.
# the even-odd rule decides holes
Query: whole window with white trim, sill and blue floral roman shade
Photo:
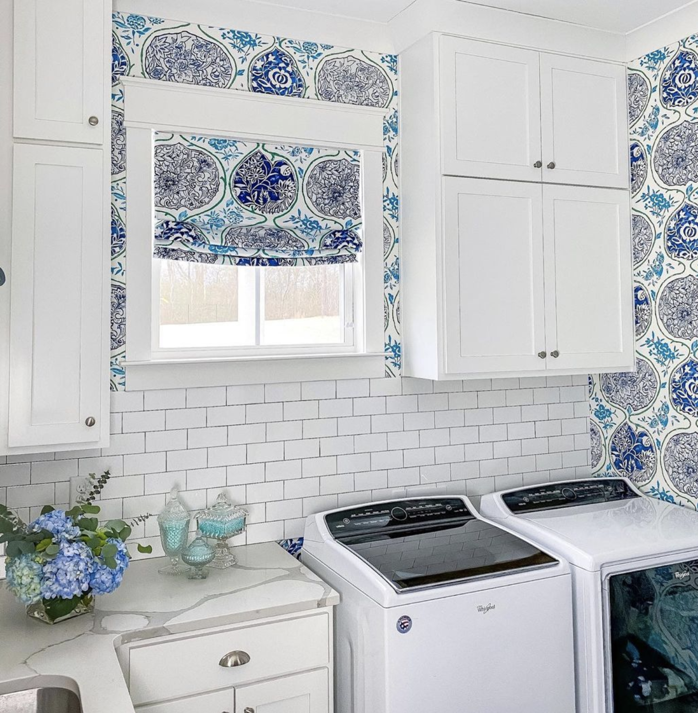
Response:
[[[122,84],[126,388],[383,376],[385,110]]]

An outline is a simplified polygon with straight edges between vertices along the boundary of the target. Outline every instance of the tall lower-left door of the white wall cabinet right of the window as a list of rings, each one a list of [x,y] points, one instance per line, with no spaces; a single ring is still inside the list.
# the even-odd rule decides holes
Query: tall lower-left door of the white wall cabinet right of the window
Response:
[[[542,186],[444,179],[447,374],[545,364]]]

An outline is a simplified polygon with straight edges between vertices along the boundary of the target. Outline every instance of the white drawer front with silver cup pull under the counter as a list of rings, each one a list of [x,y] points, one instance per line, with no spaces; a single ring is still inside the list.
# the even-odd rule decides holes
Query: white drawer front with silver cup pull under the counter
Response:
[[[219,666],[231,651],[246,652],[249,662]],[[132,647],[128,688],[139,705],[320,668],[329,660],[329,620],[322,613]]]

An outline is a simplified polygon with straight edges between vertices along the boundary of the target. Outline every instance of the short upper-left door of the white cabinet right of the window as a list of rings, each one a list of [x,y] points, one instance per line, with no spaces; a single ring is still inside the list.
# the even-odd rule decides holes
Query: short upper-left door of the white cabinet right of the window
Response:
[[[538,53],[440,39],[442,173],[541,180]]]

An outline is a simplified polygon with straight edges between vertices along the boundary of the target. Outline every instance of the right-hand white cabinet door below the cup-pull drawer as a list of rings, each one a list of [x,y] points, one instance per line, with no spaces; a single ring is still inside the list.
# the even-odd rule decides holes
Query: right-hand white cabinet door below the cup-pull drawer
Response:
[[[235,689],[235,713],[328,713],[328,670],[310,671]]]

